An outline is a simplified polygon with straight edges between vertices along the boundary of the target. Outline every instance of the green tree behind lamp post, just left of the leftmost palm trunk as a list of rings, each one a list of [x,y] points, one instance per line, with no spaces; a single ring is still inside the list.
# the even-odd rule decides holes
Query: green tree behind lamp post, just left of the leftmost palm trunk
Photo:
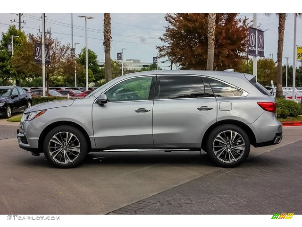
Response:
[[[85,47],[82,48],[79,53],[79,62],[82,64],[84,68],[86,68],[86,53]],[[88,75],[89,82],[97,82],[104,78],[101,74],[100,67],[98,65],[98,56],[94,51],[88,48],[88,69],[92,71],[91,75]]]

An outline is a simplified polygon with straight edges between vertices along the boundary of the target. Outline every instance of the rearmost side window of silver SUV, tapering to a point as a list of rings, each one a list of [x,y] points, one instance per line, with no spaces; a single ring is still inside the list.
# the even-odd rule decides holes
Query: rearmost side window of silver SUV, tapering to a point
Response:
[[[223,82],[207,78],[216,97],[241,96],[243,91]]]

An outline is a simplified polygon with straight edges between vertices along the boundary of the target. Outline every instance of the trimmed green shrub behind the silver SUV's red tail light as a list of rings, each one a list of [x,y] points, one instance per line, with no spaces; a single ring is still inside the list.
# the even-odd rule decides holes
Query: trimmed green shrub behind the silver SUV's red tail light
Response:
[[[300,104],[292,100],[277,98],[277,117],[281,117],[281,115],[297,117],[298,115],[301,114],[302,114],[302,107]],[[282,118],[287,118],[287,117],[282,117]]]

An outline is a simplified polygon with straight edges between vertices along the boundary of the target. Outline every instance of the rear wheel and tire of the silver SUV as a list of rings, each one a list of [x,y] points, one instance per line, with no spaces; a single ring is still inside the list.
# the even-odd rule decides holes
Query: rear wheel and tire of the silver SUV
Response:
[[[250,140],[246,132],[233,124],[216,127],[209,134],[207,153],[221,167],[236,167],[249,156]]]

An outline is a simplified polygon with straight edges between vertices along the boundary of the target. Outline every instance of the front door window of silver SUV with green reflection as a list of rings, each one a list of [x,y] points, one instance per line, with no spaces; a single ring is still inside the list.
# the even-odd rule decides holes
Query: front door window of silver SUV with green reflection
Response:
[[[107,99],[109,102],[149,100],[151,83],[152,77],[138,77],[120,82],[106,92]]]

